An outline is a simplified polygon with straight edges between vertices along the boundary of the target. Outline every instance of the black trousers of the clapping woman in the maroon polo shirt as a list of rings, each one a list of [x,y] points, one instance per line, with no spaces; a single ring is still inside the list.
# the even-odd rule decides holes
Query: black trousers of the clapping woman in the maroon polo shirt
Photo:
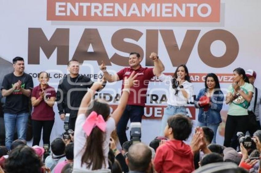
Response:
[[[53,123],[54,120],[46,120],[46,121],[32,120],[33,146],[34,145],[39,146],[42,129],[43,129],[43,143],[49,144],[50,146],[50,135],[53,129]]]

